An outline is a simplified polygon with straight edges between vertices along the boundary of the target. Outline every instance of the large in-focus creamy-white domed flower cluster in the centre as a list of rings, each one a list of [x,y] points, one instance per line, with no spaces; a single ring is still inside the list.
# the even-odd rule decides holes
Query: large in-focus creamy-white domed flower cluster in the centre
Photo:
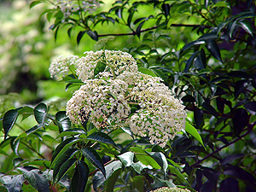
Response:
[[[184,106],[160,78],[138,72],[130,54],[111,50],[85,54],[70,62],[84,82],[67,102],[67,115],[73,123],[89,120],[97,129],[128,126],[135,135],[149,137],[150,143],[162,148],[184,128]],[[51,71],[67,72],[55,66],[58,68],[51,67]],[[96,73],[98,67],[103,68]]]

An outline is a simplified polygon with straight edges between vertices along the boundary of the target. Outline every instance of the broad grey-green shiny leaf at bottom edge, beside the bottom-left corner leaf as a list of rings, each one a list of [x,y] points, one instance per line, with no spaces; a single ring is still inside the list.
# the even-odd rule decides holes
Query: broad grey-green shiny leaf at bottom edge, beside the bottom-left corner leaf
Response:
[[[23,172],[23,175],[26,177],[28,183],[30,183],[33,188],[37,189],[38,192],[49,191],[49,183],[40,170],[32,169],[29,172]]]

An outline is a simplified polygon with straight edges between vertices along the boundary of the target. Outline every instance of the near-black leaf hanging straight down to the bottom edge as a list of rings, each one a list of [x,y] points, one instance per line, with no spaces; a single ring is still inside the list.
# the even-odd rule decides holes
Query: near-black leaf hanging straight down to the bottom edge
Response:
[[[84,161],[79,160],[71,180],[71,192],[84,192],[90,169]]]

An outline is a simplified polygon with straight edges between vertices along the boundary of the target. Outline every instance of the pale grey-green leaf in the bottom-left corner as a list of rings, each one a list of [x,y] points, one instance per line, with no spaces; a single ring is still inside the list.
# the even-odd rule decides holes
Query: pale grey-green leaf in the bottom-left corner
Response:
[[[25,182],[25,177],[23,175],[14,175],[12,177],[7,177],[9,177],[9,179],[4,179],[4,187],[6,187],[9,192],[20,192],[22,184]]]

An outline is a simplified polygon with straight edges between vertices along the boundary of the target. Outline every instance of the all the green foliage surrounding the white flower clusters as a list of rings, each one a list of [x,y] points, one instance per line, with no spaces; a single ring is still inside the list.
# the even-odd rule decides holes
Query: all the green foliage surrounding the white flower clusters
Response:
[[[5,18],[13,26],[3,22],[0,30],[0,92],[8,94],[0,96],[1,191],[256,190],[253,1],[103,1],[71,15],[48,3],[17,6],[11,15],[26,13],[26,22]],[[47,23],[52,37],[44,35]],[[183,101],[185,131],[165,148],[130,127],[73,125],[66,102],[54,100],[66,101],[83,83],[69,74],[60,90],[49,79],[49,58],[81,55],[95,41],[131,53],[139,72],[160,77]],[[105,68],[98,62],[94,76]],[[20,108],[23,102],[30,105]]]

